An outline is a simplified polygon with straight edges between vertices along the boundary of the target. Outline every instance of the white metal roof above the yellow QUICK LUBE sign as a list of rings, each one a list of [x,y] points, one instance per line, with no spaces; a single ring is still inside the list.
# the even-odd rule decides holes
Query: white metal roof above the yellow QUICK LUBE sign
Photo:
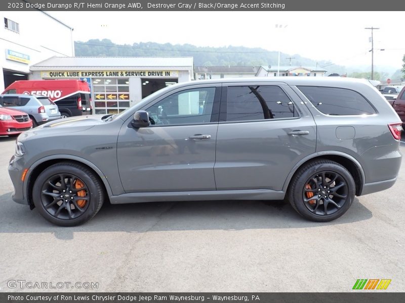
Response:
[[[192,69],[193,57],[51,57],[31,65],[31,71],[44,69],[77,70],[103,68],[179,68]]]

